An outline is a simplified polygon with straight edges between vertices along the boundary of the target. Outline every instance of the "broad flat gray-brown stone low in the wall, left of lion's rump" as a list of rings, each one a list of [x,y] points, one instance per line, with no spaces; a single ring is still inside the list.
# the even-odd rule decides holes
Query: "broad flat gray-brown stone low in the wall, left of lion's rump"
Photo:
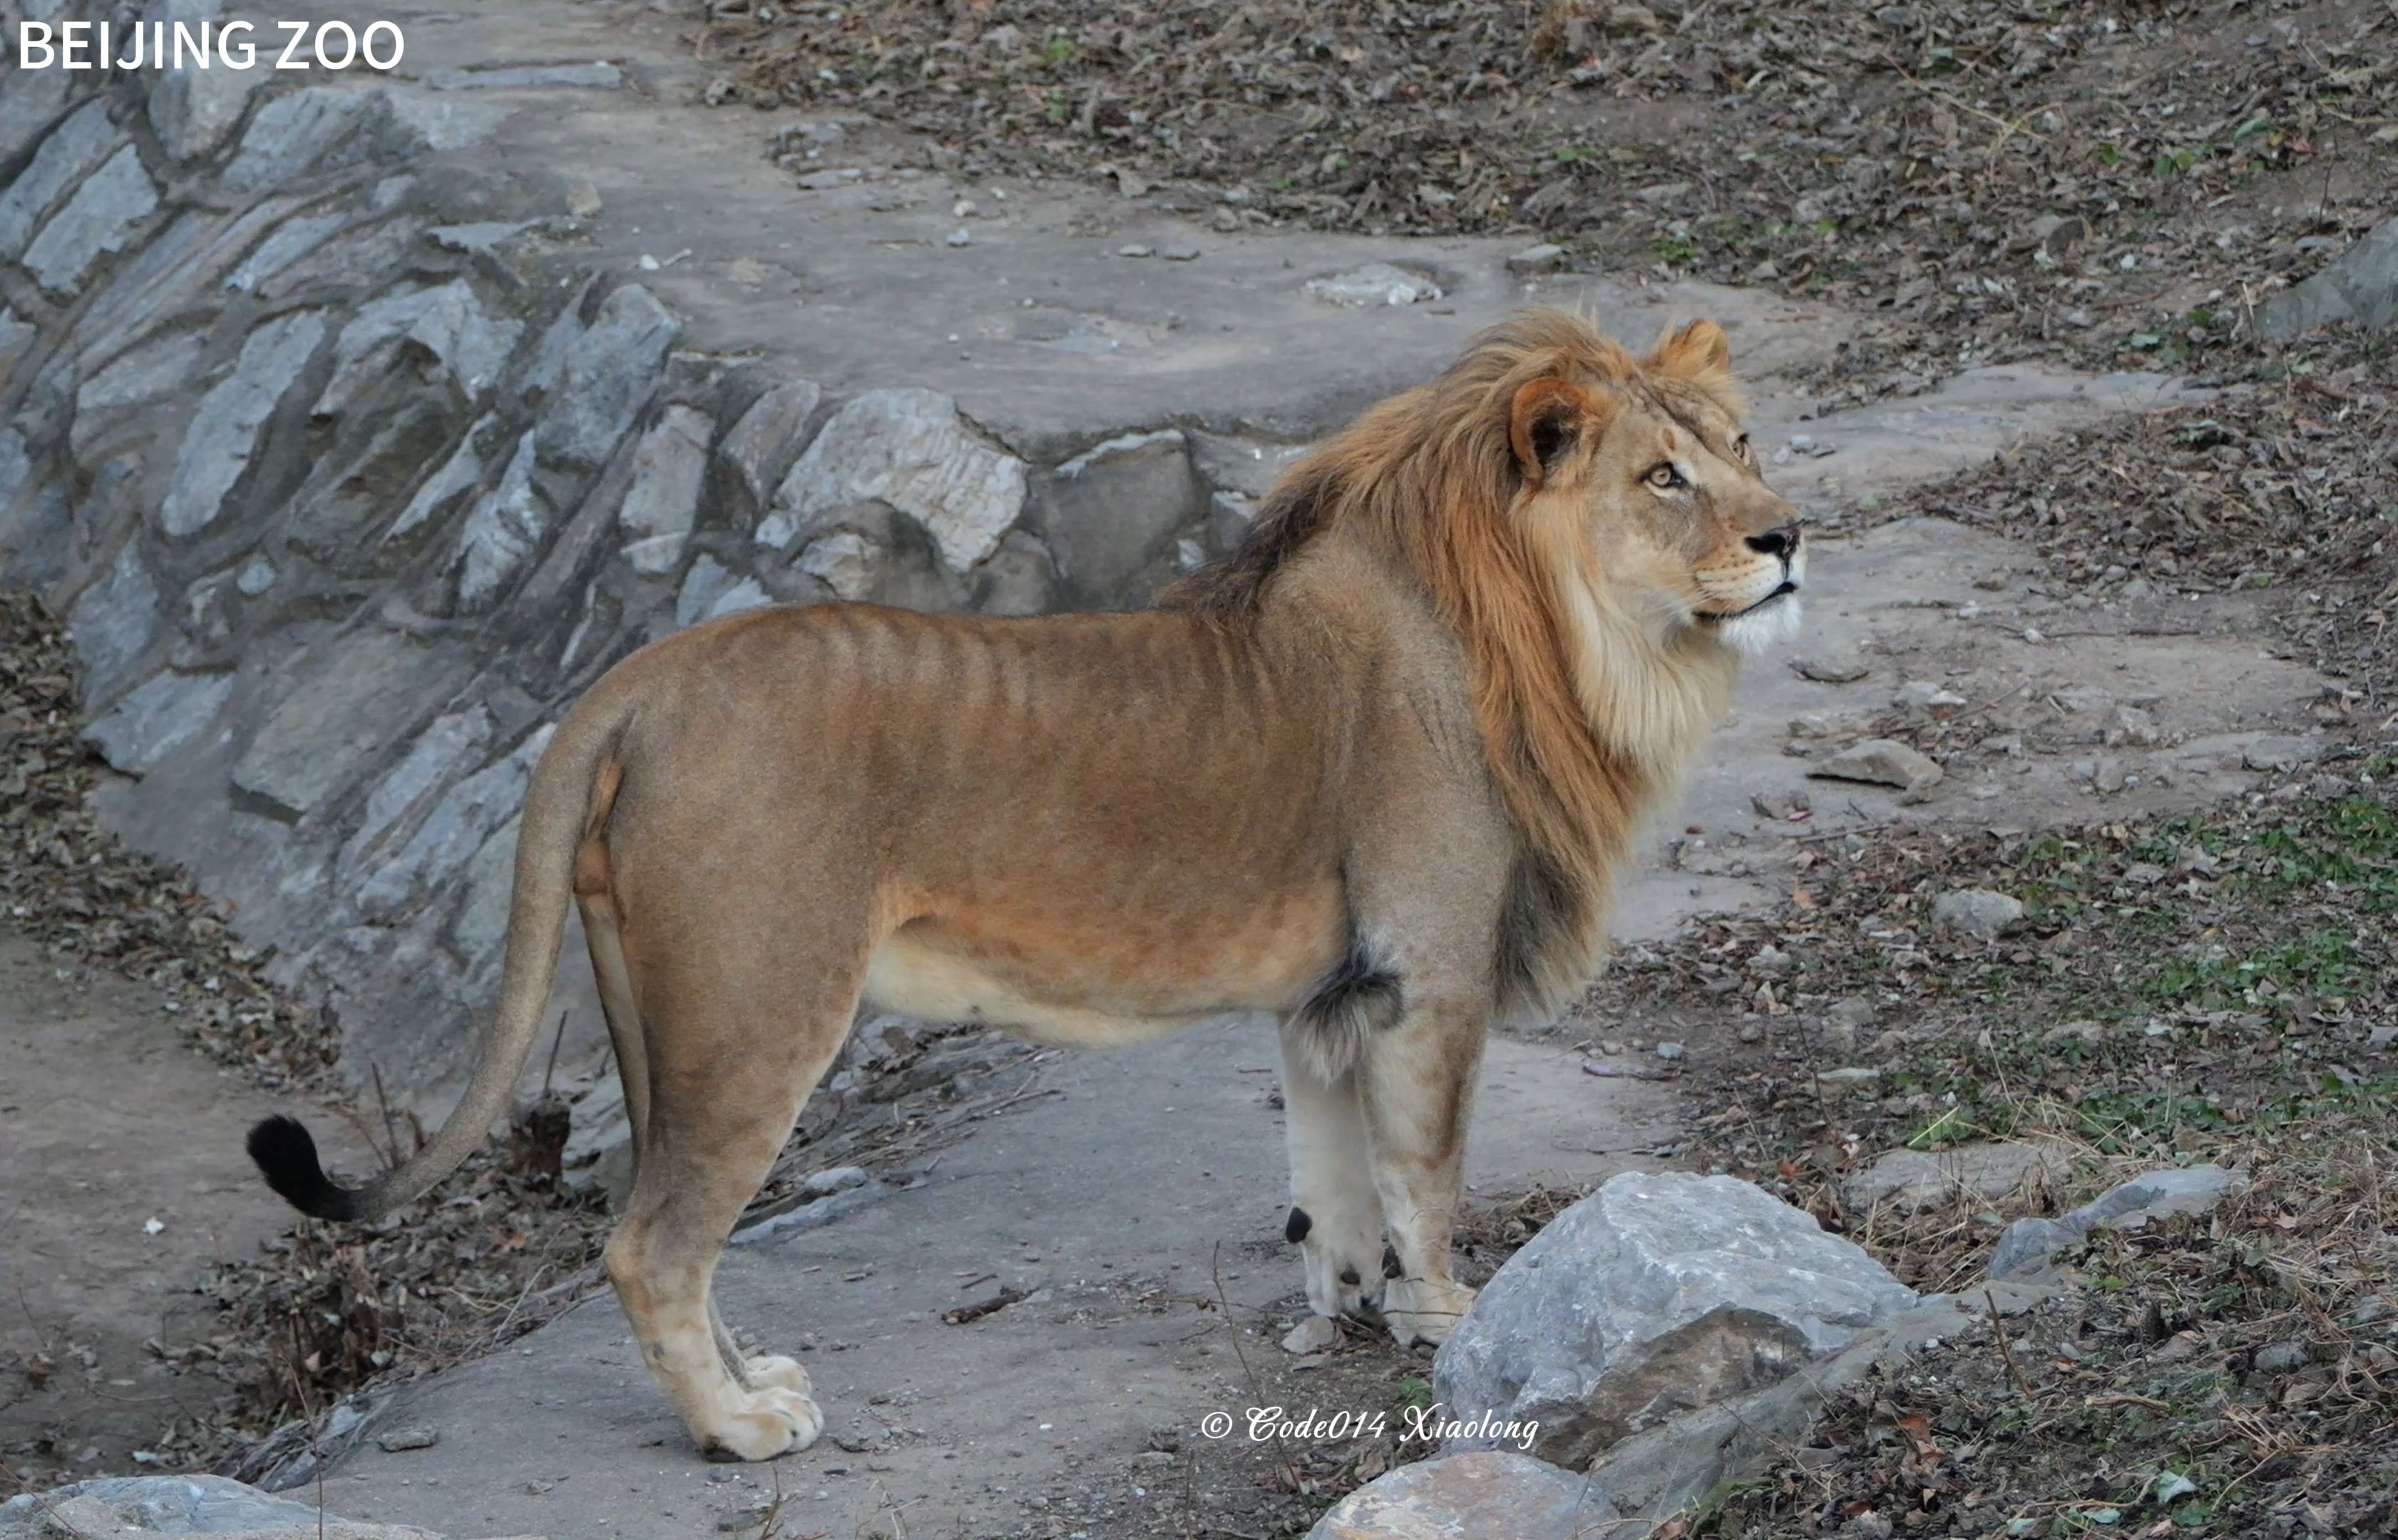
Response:
[[[297,686],[249,739],[233,784],[297,818],[372,770],[456,684],[456,662],[396,631],[369,628],[319,643],[290,676]]]

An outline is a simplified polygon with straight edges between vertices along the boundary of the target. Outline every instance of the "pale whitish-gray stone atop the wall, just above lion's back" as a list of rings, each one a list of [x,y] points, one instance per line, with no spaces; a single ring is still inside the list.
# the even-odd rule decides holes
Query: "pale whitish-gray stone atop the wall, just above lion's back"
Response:
[[[868,391],[825,425],[775,489],[794,533],[818,513],[882,501],[918,521],[950,571],[969,571],[1024,511],[1024,461],[983,444],[940,391]]]

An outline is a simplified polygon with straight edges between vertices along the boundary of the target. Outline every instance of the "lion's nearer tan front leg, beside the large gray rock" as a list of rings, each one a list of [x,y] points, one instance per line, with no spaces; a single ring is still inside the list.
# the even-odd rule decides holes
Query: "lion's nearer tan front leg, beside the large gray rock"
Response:
[[[1381,1315],[1400,1346],[1448,1341],[1475,1291],[1448,1274],[1465,1185],[1465,1125],[1482,1065],[1480,1005],[1410,1003],[1357,1065],[1374,1187],[1398,1252]]]

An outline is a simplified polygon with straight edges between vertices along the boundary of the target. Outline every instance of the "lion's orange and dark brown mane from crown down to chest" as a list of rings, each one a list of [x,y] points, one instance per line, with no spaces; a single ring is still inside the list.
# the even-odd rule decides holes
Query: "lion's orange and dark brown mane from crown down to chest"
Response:
[[[1511,518],[1523,470],[1516,393],[1561,379],[1595,398],[1722,381],[1657,379],[1566,312],[1484,331],[1434,381],[1372,408],[1266,494],[1240,547],[1189,573],[1161,607],[1216,621],[1259,612],[1276,573],[1331,528],[1355,530],[1422,578],[1472,664],[1475,720],[1520,852],[1492,957],[1499,1005],[1544,1012],[1578,988],[1602,943],[1614,864],[1628,854],[1650,775],[1592,732],[1559,559]]]

